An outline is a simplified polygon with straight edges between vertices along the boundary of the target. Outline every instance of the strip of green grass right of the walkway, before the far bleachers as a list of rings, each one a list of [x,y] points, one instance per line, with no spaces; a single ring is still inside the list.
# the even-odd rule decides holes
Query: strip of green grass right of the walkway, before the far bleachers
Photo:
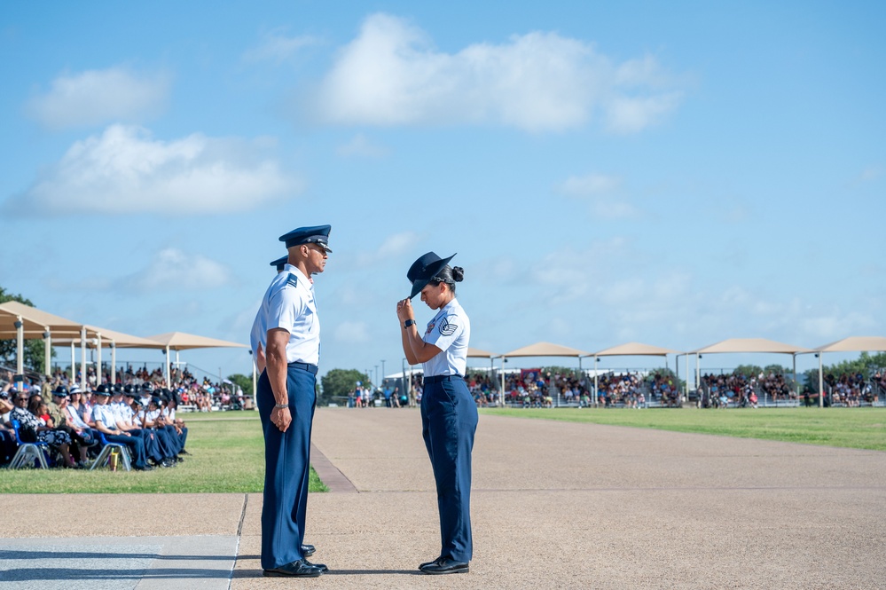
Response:
[[[886,451],[886,408],[485,408],[481,413]]]

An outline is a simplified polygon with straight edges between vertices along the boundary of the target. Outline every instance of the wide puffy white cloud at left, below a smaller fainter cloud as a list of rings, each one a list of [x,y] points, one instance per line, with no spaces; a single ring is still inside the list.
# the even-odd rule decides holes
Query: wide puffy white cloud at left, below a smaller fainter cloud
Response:
[[[272,140],[207,138],[173,141],[112,125],[71,146],[4,209],[23,215],[159,213],[184,216],[255,208],[292,195],[300,184],[259,154]]]

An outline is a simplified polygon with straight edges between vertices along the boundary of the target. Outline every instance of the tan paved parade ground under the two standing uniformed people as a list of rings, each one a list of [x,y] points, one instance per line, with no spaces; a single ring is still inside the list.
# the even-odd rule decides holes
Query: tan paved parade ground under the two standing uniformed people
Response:
[[[471,570],[425,576],[418,411],[318,408],[313,442],[320,578],[262,577],[261,493],[35,494],[3,497],[0,589],[886,587],[886,452],[481,415]]]

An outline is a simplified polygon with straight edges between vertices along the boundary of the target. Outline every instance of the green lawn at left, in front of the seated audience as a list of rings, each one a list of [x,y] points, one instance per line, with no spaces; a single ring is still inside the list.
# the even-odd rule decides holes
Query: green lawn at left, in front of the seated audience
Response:
[[[153,471],[18,469],[0,471],[0,493],[262,492],[264,438],[256,412],[183,413],[183,463]],[[314,469],[310,492],[327,492]]]

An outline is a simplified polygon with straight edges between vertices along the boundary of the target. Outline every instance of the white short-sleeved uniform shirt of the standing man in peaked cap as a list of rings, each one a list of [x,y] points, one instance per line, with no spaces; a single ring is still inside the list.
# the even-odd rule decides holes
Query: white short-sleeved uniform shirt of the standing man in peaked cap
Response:
[[[286,264],[271,281],[262,300],[267,330],[283,328],[289,333],[287,363],[317,365],[320,360],[320,319],[314,301],[314,285],[302,271]],[[267,343],[267,334],[264,343]]]

